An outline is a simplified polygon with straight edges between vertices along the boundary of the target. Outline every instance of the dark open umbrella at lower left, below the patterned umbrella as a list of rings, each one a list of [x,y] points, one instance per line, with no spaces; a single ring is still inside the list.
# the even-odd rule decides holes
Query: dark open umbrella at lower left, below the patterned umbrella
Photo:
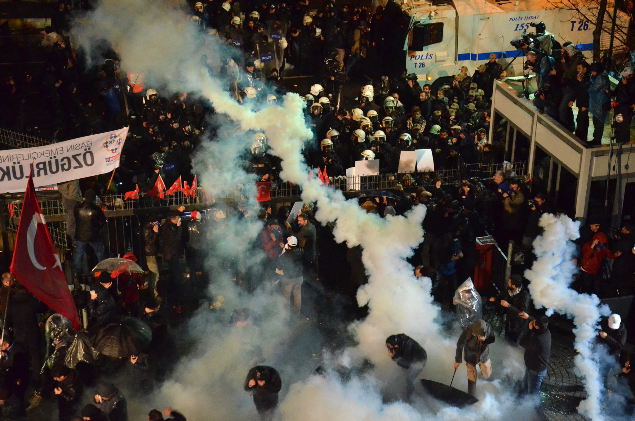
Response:
[[[151,340],[150,326],[135,317],[123,316],[101,328],[93,338],[93,346],[109,357],[130,357],[144,351]]]

